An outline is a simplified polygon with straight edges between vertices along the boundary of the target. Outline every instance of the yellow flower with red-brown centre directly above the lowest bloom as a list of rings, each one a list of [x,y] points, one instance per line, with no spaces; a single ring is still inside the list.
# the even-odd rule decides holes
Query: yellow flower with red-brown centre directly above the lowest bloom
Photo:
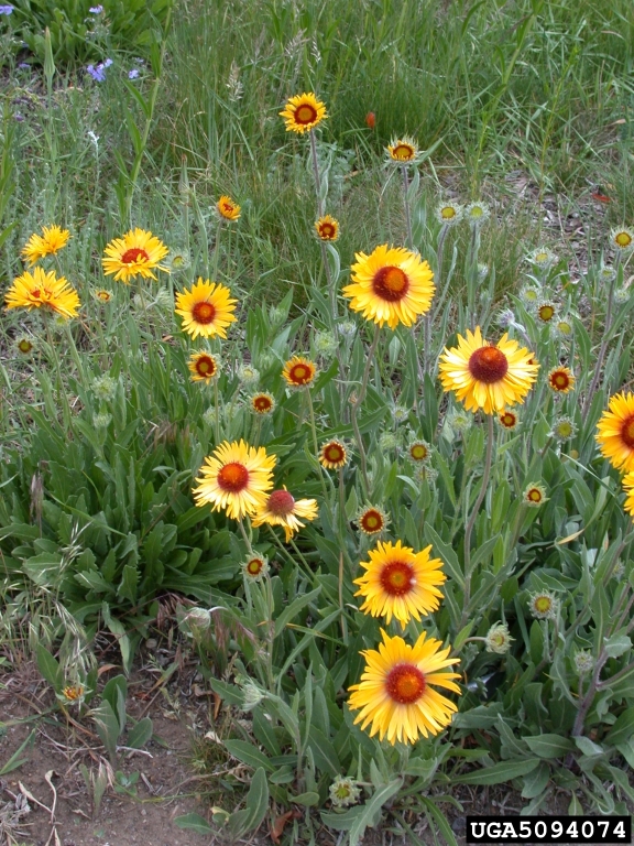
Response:
[[[354,579],[360,588],[354,596],[365,600],[360,610],[372,617],[385,617],[386,623],[394,617],[403,629],[412,617],[419,621],[420,611],[435,611],[442,598],[438,585],[447,576],[440,572],[440,558],[429,557],[430,550],[427,546],[414,552],[411,546],[402,546],[401,541],[379,541],[376,549],[368,553],[370,561],[361,562],[367,572]]]

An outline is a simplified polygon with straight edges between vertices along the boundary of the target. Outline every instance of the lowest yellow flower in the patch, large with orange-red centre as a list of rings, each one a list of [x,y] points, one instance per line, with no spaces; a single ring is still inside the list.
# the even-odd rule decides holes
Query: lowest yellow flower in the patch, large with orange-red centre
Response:
[[[391,638],[383,630],[381,634],[378,650],[361,653],[367,661],[361,682],[349,688],[350,707],[361,708],[354,724],[361,723],[363,729],[372,724],[370,737],[379,734],[380,740],[386,737],[392,745],[439,734],[458,707],[434,687],[460,693],[453,681],[459,674],[439,672],[459,659],[447,658],[450,649],[441,650],[440,641],[427,639],[426,632],[413,647],[398,636]]]

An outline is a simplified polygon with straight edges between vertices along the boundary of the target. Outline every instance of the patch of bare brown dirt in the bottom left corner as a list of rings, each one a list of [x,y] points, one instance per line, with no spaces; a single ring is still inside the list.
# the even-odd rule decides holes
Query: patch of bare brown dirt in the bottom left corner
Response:
[[[147,680],[151,687],[153,679]],[[2,690],[3,687],[3,690]],[[179,828],[174,818],[196,812],[206,817],[193,745],[208,704],[190,707],[158,695],[146,707],[145,691],[131,682],[128,711],[146,711],[154,736],[143,750],[120,750],[114,770],[89,730],[90,720],[67,725],[32,666],[0,675],[0,770],[23,741],[24,762],[0,777],[1,846],[197,846],[209,835]],[[155,693],[155,692],[154,692]],[[203,698],[203,697],[200,697]],[[176,705],[176,707],[174,707]],[[134,714],[136,712],[136,714]],[[98,813],[81,764],[108,787]]]

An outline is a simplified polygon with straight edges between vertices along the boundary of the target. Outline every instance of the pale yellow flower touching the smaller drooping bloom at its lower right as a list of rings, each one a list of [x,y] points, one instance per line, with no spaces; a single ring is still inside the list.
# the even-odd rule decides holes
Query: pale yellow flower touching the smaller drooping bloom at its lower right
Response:
[[[274,455],[266,455],[263,446],[225,441],[205,458],[201,476],[196,479],[199,485],[194,488],[196,505],[209,502],[214,511],[225,509],[236,520],[255,513],[273,487],[276,460]]]

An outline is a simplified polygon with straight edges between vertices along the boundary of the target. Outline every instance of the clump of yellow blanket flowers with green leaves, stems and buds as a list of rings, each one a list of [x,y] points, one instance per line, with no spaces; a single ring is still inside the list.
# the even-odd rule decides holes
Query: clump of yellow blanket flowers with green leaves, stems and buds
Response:
[[[440,806],[460,783],[513,782],[528,813],[553,784],[570,813],[625,813],[634,236],[611,231],[613,260],[577,285],[537,245],[500,307],[494,209],[428,208],[430,151],[404,135],[385,151],[403,243],[342,267],[326,105],[304,93],[281,116],[315,187],[302,310],[291,291],[242,307],[226,269],[247,204],[229,194],[200,268],[132,225],[77,285],[68,230],[23,248],[4,304],[26,315],[42,402],[15,409],[29,436],[4,447],[4,575],[88,636],[109,628],[125,669],[161,593],[196,597],[179,622],[230,717],[215,741],[253,770],[209,831],[241,837],[273,801],[292,840],[318,813],[352,846],[380,821],[415,839],[422,815],[453,844]],[[188,207],[186,165],[181,185]]]

